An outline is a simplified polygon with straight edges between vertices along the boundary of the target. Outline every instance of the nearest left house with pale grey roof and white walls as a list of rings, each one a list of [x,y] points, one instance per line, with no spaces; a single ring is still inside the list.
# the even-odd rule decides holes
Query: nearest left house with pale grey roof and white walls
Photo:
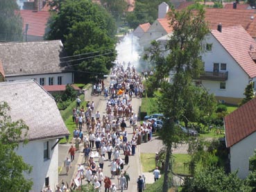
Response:
[[[54,98],[35,80],[0,82],[0,102],[10,106],[12,121],[28,125],[28,144],[19,144],[17,154],[33,171],[33,191],[58,184],[58,142],[69,134]]]

